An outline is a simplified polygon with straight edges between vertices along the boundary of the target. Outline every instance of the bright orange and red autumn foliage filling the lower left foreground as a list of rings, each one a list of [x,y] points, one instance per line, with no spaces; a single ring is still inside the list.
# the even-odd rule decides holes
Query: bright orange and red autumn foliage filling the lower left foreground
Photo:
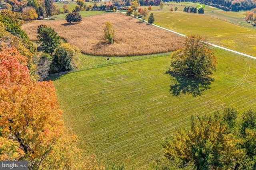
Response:
[[[0,52],[0,160],[27,160],[29,169],[81,166],[76,136],[68,135],[52,82],[34,82],[28,58]]]

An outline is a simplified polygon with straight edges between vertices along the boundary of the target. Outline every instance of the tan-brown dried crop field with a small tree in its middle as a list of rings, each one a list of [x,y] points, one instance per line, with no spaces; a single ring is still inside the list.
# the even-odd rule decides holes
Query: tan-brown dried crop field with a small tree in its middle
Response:
[[[105,22],[116,29],[116,43],[102,43]],[[26,23],[22,29],[31,41],[36,41],[37,28],[42,23]],[[184,45],[184,38],[154,27],[121,13],[108,13],[83,18],[79,24],[68,24],[66,20],[45,22],[54,28],[68,43],[76,45],[89,55],[134,56],[175,51]]]

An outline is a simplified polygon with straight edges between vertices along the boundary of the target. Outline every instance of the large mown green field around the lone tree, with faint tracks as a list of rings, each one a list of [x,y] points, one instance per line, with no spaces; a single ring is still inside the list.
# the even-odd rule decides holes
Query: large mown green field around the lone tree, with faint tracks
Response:
[[[188,125],[191,115],[225,107],[240,113],[256,109],[256,60],[214,51],[218,68],[207,83],[174,80],[166,74],[170,56],[73,72],[55,80],[65,125],[78,135],[84,156],[95,153],[100,164],[125,163],[127,169],[141,170],[162,155],[162,141],[176,126]],[[201,96],[193,97],[193,92]]]

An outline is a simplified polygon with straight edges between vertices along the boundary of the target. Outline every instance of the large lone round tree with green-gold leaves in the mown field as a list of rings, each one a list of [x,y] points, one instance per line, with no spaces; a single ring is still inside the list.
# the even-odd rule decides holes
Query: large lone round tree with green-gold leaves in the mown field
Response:
[[[186,37],[185,48],[172,53],[171,66],[177,74],[189,77],[207,77],[216,70],[217,59],[206,39]]]

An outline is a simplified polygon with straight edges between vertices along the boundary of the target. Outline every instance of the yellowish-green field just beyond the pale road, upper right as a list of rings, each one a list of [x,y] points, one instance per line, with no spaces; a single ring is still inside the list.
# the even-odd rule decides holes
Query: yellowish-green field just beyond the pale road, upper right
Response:
[[[210,16],[186,12],[153,12],[157,25],[184,35],[208,37],[210,43],[255,56],[256,30]]]

